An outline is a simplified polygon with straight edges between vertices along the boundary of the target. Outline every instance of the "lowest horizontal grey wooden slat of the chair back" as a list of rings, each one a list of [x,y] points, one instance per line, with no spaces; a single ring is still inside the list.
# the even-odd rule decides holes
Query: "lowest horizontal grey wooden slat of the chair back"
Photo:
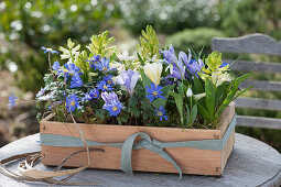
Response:
[[[281,130],[281,119],[237,116],[237,125]]]

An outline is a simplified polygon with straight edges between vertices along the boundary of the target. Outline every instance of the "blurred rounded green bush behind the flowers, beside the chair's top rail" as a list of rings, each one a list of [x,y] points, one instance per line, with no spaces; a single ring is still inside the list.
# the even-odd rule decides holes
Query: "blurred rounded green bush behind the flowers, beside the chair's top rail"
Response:
[[[167,36],[166,45],[173,44],[175,51],[187,53],[188,47],[195,52],[199,52],[204,47],[203,54],[207,55],[212,52],[210,44],[213,37],[223,37],[225,34],[212,28],[185,29]]]

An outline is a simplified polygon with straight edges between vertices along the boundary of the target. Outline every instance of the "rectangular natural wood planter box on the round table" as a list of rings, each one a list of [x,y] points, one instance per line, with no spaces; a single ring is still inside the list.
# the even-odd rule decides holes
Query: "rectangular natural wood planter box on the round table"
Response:
[[[87,140],[99,143],[122,143],[127,138],[137,133],[145,132],[151,139],[161,142],[186,142],[196,140],[221,139],[235,117],[235,105],[230,103],[221,114],[220,125],[216,130],[204,129],[176,129],[156,127],[132,127],[109,124],[79,123]],[[79,138],[78,131],[73,123],[47,121],[40,123],[41,134],[57,134]],[[165,152],[177,163],[183,174],[221,175],[226,162],[235,143],[235,129],[231,130],[221,151],[196,150],[190,147],[164,148]],[[112,146],[96,146],[105,152],[91,152],[91,168],[120,169],[121,148]],[[74,152],[85,147],[65,147],[41,145],[42,163],[44,165],[60,165],[62,161]],[[64,166],[82,166],[87,164],[85,152],[71,157]],[[156,153],[144,148],[132,151],[132,169],[142,172],[177,173],[174,166]]]

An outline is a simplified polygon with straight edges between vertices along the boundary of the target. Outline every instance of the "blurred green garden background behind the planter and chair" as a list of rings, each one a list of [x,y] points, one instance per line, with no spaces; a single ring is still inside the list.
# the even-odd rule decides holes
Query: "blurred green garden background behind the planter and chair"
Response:
[[[32,102],[11,111],[6,100],[11,91],[21,100],[33,99],[43,86],[47,64],[41,46],[57,50],[68,37],[85,44],[93,34],[109,30],[119,50],[132,52],[140,31],[151,24],[162,46],[172,43],[176,51],[185,52],[187,47],[199,51],[204,46],[207,54],[214,36],[259,32],[280,41],[280,6],[281,0],[0,0],[0,146],[39,131]],[[281,62],[261,55],[239,58]],[[260,75],[259,79],[281,80],[281,76]],[[262,91],[250,91],[248,96],[281,98]],[[281,118],[280,112],[272,111],[237,112]],[[281,131],[252,128],[237,131],[281,152]]]

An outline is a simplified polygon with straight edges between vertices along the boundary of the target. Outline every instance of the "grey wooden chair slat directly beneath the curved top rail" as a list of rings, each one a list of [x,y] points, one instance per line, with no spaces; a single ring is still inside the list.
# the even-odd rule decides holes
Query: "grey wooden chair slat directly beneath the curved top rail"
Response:
[[[234,61],[224,59],[224,63],[231,64]],[[233,70],[256,72],[256,73],[281,73],[280,63],[256,63],[249,61],[237,61],[233,66]]]

